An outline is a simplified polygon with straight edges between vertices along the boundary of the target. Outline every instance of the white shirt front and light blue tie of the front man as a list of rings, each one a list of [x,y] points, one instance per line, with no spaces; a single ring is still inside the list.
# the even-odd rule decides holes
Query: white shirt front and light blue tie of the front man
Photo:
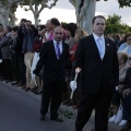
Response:
[[[105,38],[104,38],[104,35],[99,37],[99,36],[97,36],[96,34],[93,33],[93,36],[94,36],[94,39],[96,41],[96,46],[98,48],[99,56],[103,60],[103,58],[105,56]]]

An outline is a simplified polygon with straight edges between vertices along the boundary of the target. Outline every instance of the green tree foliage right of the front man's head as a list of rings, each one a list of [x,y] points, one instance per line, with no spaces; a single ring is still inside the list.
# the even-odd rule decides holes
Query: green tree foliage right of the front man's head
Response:
[[[121,16],[114,14],[108,15],[107,20],[106,34],[124,34],[131,31],[131,27],[127,24],[121,23]]]

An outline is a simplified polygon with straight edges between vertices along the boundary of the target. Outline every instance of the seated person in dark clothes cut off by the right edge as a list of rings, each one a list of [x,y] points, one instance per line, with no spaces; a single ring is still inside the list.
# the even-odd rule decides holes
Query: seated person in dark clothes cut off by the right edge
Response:
[[[129,64],[130,59],[127,61],[128,63],[126,64],[128,68],[126,68],[124,81],[118,86],[118,92],[122,99],[122,121],[126,121],[120,131],[131,130],[131,67]]]

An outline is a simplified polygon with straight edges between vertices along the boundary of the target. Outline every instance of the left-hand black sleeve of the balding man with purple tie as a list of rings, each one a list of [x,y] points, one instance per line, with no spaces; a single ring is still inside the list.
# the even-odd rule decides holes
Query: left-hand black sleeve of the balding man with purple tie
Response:
[[[38,74],[46,62],[46,44],[44,44],[43,49],[39,55],[39,60],[36,64],[36,69],[33,71],[34,74]]]

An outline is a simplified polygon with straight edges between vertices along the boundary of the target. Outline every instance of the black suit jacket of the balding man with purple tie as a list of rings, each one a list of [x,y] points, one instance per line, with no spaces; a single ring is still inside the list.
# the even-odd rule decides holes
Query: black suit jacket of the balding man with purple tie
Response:
[[[44,43],[40,58],[37,62],[35,74],[38,74],[44,67],[44,83],[55,82],[56,80],[66,81],[66,62],[70,58],[69,46],[62,43],[62,53],[60,59],[57,59],[53,41]]]

